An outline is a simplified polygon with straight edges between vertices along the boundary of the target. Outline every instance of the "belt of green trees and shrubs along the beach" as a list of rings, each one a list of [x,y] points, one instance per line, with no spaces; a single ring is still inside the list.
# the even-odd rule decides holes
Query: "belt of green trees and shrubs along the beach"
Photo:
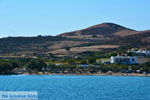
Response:
[[[58,64],[59,62],[59,64]],[[150,62],[136,65],[123,64],[102,64],[96,62],[95,58],[66,58],[55,60],[32,59],[32,60],[0,60],[0,74],[14,74],[15,69],[25,68],[30,72],[48,72],[48,73],[150,73]],[[88,66],[80,66],[88,65]],[[29,72],[29,71],[28,71]],[[17,72],[16,72],[17,73]]]

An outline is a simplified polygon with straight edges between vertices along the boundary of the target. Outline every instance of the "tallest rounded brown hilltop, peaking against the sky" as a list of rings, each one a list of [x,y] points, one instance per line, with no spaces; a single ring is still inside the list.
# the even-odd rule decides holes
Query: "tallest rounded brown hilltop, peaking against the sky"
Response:
[[[88,27],[86,29],[60,34],[59,36],[69,38],[104,38],[104,36],[128,36],[136,34],[137,31],[114,24],[102,23]]]

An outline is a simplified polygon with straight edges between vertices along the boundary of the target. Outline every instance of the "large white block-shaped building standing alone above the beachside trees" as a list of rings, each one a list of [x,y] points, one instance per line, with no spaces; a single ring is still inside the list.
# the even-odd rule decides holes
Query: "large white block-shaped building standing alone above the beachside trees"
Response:
[[[110,58],[110,63],[137,64],[138,58],[130,56],[112,56]]]

